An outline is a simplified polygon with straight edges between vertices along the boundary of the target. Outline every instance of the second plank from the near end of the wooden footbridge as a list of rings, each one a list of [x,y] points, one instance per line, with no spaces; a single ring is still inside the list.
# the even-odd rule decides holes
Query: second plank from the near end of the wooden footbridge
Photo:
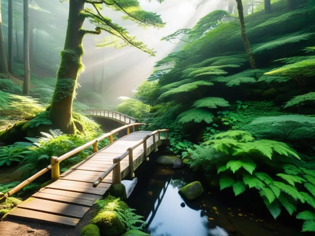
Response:
[[[89,207],[66,204],[61,202],[54,202],[38,198],[28,198],[18,205],[18,208],[23,208],[33,211],[41,211],[44,213],[55,213],[62,216],[70,216],[82,218]]]

